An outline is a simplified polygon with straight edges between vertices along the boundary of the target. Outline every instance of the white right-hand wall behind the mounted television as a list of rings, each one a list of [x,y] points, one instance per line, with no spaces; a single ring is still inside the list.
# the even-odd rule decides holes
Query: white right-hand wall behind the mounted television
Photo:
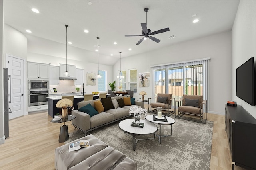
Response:
[[[254,57],[256,63],[256,1],[241,0],[232,28],[232,100],[256,118],[256,106],[236,96],[236,68]]]

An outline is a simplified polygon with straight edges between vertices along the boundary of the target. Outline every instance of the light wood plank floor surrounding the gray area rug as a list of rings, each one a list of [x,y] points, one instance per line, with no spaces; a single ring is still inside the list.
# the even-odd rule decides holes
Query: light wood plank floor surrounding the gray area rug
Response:
[[[147,108],[147,107],[146,107]],[[51,123],[47,112],[29,114],[9,122],[10,137],[0,145],[1,170],[54,170],[54,149],[58,142],[59,123]],[[225,131],[225,116],[208,114],[214,122],[210,170],[231,170],[232,161]],[[74,131],[71,122],[68,131]],[[235,167],[241,170],[240,167]]]

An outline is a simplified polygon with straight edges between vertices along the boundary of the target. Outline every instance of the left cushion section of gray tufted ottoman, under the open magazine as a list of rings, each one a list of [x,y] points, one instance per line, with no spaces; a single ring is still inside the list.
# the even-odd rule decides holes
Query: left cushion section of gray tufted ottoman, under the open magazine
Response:
[[[68,152],[70,143],[74,143],[80,140],[89,140],[90,147],[82,148],[80,150]],[[56,170],[68,170],[68,168],[79,164],[84,159],[96,154],[100,150],[105,149],[108,145],[102,142],[100,139],[93,135],[88,135],[80,139],[76,139],[68,144],[62,145],[55,149],[55,169]]]

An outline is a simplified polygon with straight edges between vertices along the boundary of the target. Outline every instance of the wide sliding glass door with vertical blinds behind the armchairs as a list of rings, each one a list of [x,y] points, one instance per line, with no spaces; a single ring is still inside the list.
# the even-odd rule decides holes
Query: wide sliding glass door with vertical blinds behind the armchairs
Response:
[[[183,94],[203,95],[207,99],[208,61],[188,61],[153,67],[154,96],[158,93],[170,93],[173,98],[182,98]]]

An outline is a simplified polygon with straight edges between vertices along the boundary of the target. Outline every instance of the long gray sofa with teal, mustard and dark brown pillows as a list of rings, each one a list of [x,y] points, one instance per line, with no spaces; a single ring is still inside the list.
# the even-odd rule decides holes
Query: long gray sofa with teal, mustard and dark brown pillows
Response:
[[[76,116],[72,125],[85,135],[89,131],[130,117],[129,109],[132,106],[144,108],[144,102],[135,101],[130,95],[82,101],[77,105],[78,109],[72,111],[72,115]]]

